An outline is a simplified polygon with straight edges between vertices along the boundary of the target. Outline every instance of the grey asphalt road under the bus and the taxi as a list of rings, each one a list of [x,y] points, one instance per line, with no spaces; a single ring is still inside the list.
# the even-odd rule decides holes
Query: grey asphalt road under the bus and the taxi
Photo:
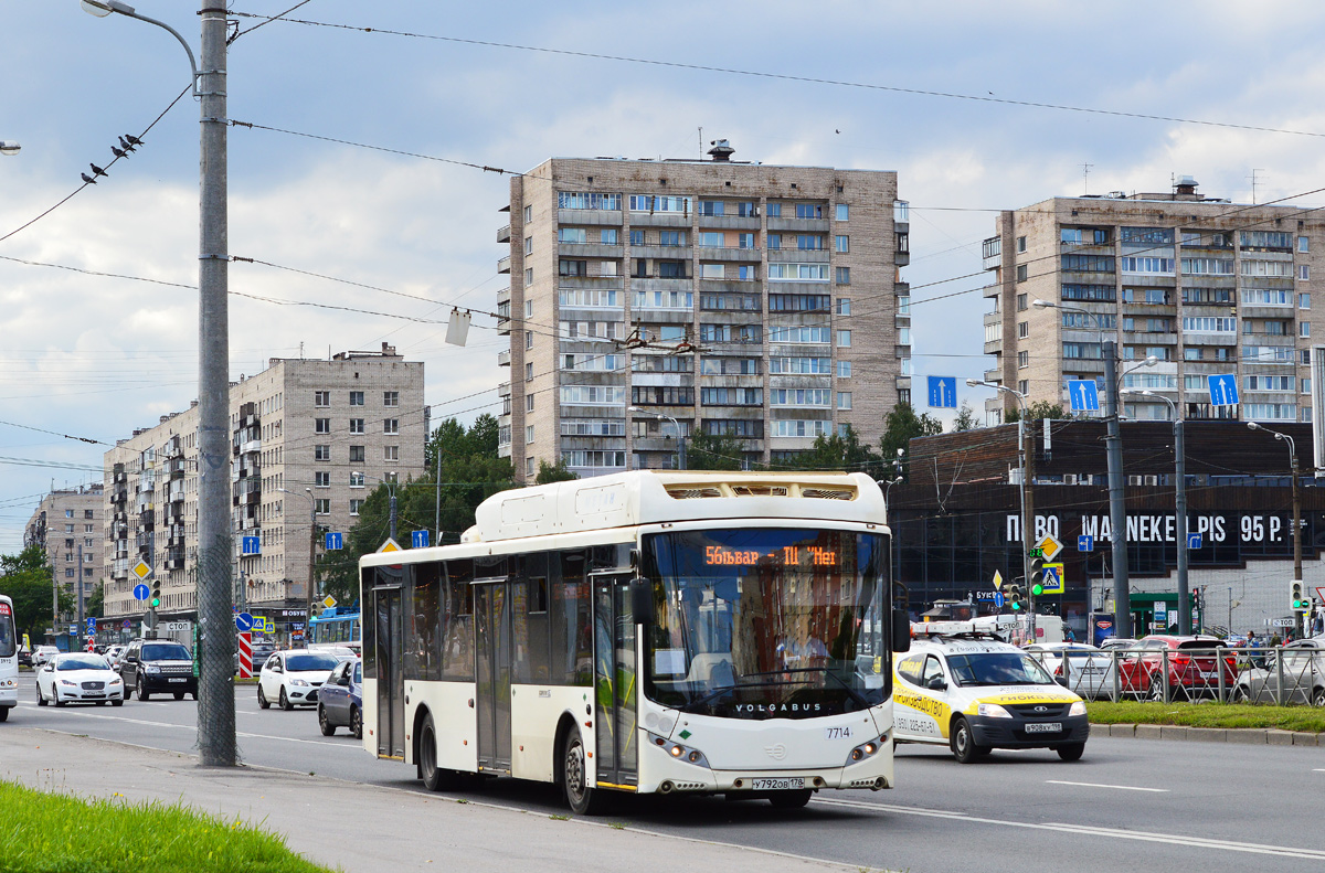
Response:
[[[192,701],[37,709],[30,674],[23,682],[11,723],[172,751],[195,746]],[[370,758],[343,731],[322,737],[311,710],[260,710],[250,686],[236,693],[236,721],[246,763],[421,791],[412,767]],[[798,811],[624,797],[610,817],[660,835],[916,873],[1325,868],[1325,828],[1313,824],[1325,795],[1321,748],[1096,738],[1076,763],[1027,751],[962,766],[943,751],[904,746],[897,774],[897,790],[818,795]],[[553,787],[509,779],[457,796],[566,812]]]

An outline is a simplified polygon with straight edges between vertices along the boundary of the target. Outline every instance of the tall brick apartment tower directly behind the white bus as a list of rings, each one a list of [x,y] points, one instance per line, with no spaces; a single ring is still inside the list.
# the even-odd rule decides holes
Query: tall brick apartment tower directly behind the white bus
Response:
[[[897,174],[730,160],[543,162],[511,180],[501,452],[580,476],[673,466],[702,429],[770,462],[910,399]]]

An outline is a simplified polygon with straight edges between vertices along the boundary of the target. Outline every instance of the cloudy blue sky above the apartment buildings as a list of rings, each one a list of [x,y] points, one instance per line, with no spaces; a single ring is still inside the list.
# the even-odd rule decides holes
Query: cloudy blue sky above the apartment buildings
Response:
[[[238,13],[295,1],[231,9],[244,30],[261,17]],[[197,45],[195,0],[135,5]],[[1253,171],[1259,201],[1325,185],[1325,4],[1308,0],[311,0],[292,17],[318,24],[272,23],[231,46],[231,118],[380,150],[232,128],[231,254],[289,269],[233,264],[231,290],[396,318],[235,297],[232,378],[273,356],[391,342],[427,363],[435,416],[496,409],[504,379],[492,319],[476,317],[462,350],[433,323],[454,303],[493,310],[506,283],[494,233],[509,181],[448,162],[521,171],[551,155],[698,156],[702,128],[738,160],[896,170],[912,204],[904,276],[921,379],[979,375],[991,360],[979,355],[984,282],[958,277],[979,272],[998,209],[1086,184],[1165,191],[1175,174],[1235,201],[1251,200]],[[0,237],[73,195],[0,240],[11,552],[52,485],[99,480],[105,446],[58,435],[114,444],[196,395],[196,294],[179,285],[196,283],[199,113],[179,101],[138,154],[80,189],[90,162],[106,167],[115,138],[143,131],[187,86],[183,49],[78,0],[0,0],[0,139],[23,144],[0,158]],[[969,293],[922,303],[954,291]]]

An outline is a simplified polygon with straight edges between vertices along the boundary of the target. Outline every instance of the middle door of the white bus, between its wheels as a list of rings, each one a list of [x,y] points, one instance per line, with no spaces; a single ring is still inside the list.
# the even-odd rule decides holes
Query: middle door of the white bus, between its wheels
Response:
[[[510,583],[474,582],[478,768],[510,774]]]

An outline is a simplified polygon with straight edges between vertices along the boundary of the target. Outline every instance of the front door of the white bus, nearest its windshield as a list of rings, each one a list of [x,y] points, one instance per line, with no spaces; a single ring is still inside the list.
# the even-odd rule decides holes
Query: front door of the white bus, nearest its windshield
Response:
[[[635,786],[636,748],[635,616],[629,575],[594,580],[594,719],[598,784]]]

